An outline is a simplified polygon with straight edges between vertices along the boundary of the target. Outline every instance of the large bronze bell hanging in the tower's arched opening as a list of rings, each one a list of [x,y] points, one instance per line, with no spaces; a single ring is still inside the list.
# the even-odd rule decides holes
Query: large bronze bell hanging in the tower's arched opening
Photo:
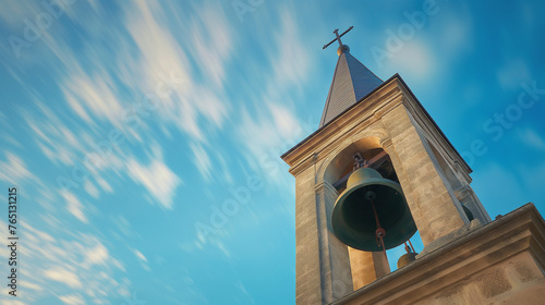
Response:
[[[350,175],[335,203],[331,224],[341,242],[367,252],[393,248],[416,232],[401,186],[371,168]]]

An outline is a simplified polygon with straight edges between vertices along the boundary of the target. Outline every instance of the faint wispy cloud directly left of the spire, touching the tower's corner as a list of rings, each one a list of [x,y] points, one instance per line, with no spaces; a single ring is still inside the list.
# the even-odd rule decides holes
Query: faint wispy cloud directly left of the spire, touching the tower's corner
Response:
[[[254,172],[263,172],[276,185],[286,183],[278,174],[283,166],[279,156],[314,131],[298,120],[295,113],[293,95],[311,78],[313,58],[291,9],[281,8],[277,19],[270,20],[278,24],[271,29],[274,44],[265,40],[261,44],[274,73],[265,77],[266,86],[255,88],[255,108],[240,111],[237,129],[237,138],[242,142],[241,155],[247,166]]]

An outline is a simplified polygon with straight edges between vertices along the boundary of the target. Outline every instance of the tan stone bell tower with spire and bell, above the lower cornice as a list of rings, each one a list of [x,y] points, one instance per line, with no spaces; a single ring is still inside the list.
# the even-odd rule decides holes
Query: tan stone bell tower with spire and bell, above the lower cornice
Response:
[[[339,42],[319,129],[281,156],[295,178],[296,304],[351,304],[343,300],[366,290],[391,298],[403,285],[389,293],[377,279],[395,280],[491,222],[470,186],[470,167],[401,76],[382,81],[350,53],[341,37],[351,29],[336,29],[337,38],[324,46]],[[386,195],[370,197],[378,186]],[[355,199],[347,195],[358,192]],[[391,200],[397,204],[388,206]],[[412,228],[424,249],[390,273],[387,239],[399,235],[391,244],[403,243]]]

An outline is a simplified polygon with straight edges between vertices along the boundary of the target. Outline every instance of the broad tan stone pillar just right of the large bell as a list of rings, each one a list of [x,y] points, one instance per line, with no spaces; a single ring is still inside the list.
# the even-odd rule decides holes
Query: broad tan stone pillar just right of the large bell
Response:
[[[465,216],[456,207],[403,103],[380,121],[390,135],[383,146],[390,155],[424,245],[463,225]]]

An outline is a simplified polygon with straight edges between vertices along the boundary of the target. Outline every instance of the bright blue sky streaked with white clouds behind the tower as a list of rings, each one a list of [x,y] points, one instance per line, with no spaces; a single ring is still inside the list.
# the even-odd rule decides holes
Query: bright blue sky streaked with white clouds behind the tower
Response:
[[[17,186],[21,222],[0,304],[294,304],[279,156],[317,129],[322,46],[351,25],[351,53],[400,73],[493,218],[545,211],[542,1],[45,2],[0,10],[1,200]]]

